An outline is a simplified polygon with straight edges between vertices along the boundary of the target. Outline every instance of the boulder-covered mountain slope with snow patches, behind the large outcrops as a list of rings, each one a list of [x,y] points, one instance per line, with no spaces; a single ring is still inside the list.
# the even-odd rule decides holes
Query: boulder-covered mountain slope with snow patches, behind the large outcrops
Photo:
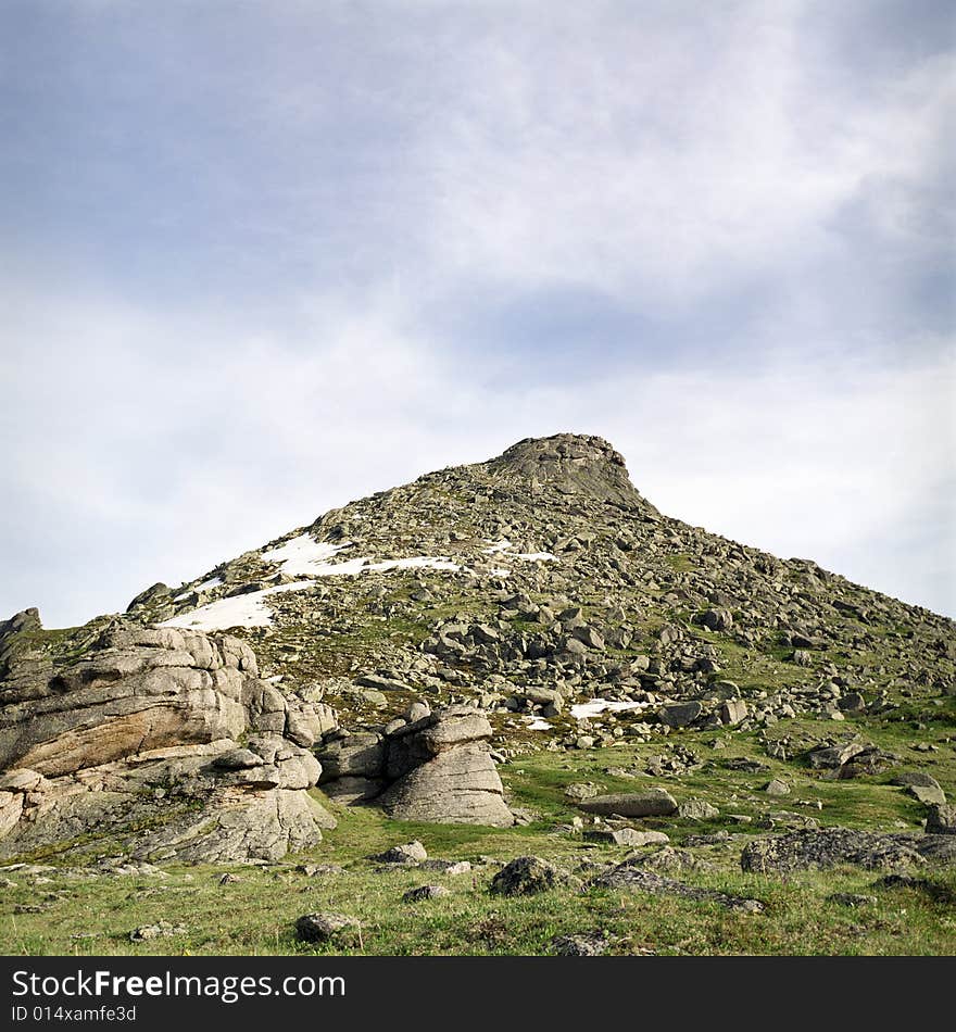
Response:
[[[568,433],[352,502],[129,616],[229,630],[345,727],[474,703],[505,756],[713,727],[733,700],[744,728],[880,710],[952,692],[956,658],[952,620],[665,516]]]

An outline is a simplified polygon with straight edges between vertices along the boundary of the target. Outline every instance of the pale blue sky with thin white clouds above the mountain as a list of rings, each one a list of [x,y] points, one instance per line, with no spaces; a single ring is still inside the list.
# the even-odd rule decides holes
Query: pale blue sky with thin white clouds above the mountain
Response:
[[[4,0],[0,619],[599,433],[956,616],[949,0]]]

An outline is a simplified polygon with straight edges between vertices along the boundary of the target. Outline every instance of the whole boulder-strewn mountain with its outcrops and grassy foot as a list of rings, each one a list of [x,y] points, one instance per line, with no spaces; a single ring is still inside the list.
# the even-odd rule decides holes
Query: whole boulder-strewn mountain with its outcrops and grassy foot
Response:
[[[72,951],[90,879],[155,878],[127,941],[361,920],[427,953],[410,903],[452,894],[452,952],[749,953],[755,915],[783,952],[946,952],[954,660],[952,620],[662,514],[606,441],[519,441],[125,614],[0,622],[5,923]],[[295,921],[313,878],[344,916]],[[117,891],[131,917],[159,890]],[[550,917],[510,931],[495,901],[531,893]]]

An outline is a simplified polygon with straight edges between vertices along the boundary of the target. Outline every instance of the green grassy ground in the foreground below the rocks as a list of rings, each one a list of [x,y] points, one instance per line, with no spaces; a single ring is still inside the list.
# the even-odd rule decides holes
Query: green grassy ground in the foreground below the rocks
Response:
[[[791,734],[800,721],[789,722]],[[804,730],[819,733],[820,721]],[[863,721],[854,729],[909,763],[911,729]],[[15,888],[2,890],[0,949],[7,954],[309,954],[366,955],[536,955],[553,952],[555,936],[600,931],[618,955],[877,954],[956,953],[956,907],[913,888],[878,885],[878,871],[839,869],[785,877],[743,873],[739,856],[749,835],[768,833],[768,816],[787,810],[821,825],[881,830],[919,830],[922,807],[890,783],[892,770],[854,781],[828,781],[801,760],[772,759],[755,735],[683,734],[702,766],[676,778],[625,778],[607,768],[639,769],[661,742],[624,744],[574,753],[540,752],[501,768],[510,797],[540,815],[531,825],[490,829],[418,825],[385,818],[378,810],[329,804],[339,827],[307,855],[268,868],[167,868],[165,879],[53,873],[27,883],[14,872]],[[724,748],[714,743],[724,741]],[[913,754],[949,793],[956,792],[948,730],[935,725],[920,741],[935,753]],[[728,760],[747,757],[766,770],[730,769]],[[784,778],[792,792],[772,798],[763,786]],[[576,813],[564,790],[574,781],[594,781],[607,791],[649,783],[666,784],[681,801],[701,798],[720,808],[709,821],[659,818],[634,825],[665,830],[680,848],[692,834],[725,830],[732,838],[694,854],[706,867],[678,873],[694,885],[762,901],[765,913],[739,914],[713,904],[609,890],[553,892],[526,898],[491,895],[495,861],[537,854],[587,878],[592,865],[620,860],[625,847],[595,844],[559,831]],[[818,804],[821,804],[818,806]],[[747,822],[750,818],[750,822]],[[778,828],[778,830],[780,830]],[[470,873],[455,877],[415,868],[382,870],[368,859],[390,845],[420,840],[432,857],[468,859]],[[483,860],[483,863],[482,863]],[[342,873],[309,877],[300,864],[335,864]],[[238,880],[226,880],[225,873]],[[956,871],[922,869],[919,876],[956,896]],[[402,902],[411,888],[444,884],[451,895],[417,904]],[[847,906],[836,893],[875,902]],[[347,947],[305,946],[295,941],[302,914],[332,910],[362,921],[362,940]],[[184,931],[133,943],[129,933],[167,921]]]

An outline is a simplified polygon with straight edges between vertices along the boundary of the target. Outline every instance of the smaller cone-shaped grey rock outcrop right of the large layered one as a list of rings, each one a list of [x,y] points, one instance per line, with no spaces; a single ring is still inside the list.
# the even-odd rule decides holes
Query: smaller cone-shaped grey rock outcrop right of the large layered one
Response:
[[[374,800],[400,820],[508,827],[514,817],[489,753],[490,737],[483,714],[449,706],[387,734],[327,743],[318,753],[320,783],[332,796]]]

